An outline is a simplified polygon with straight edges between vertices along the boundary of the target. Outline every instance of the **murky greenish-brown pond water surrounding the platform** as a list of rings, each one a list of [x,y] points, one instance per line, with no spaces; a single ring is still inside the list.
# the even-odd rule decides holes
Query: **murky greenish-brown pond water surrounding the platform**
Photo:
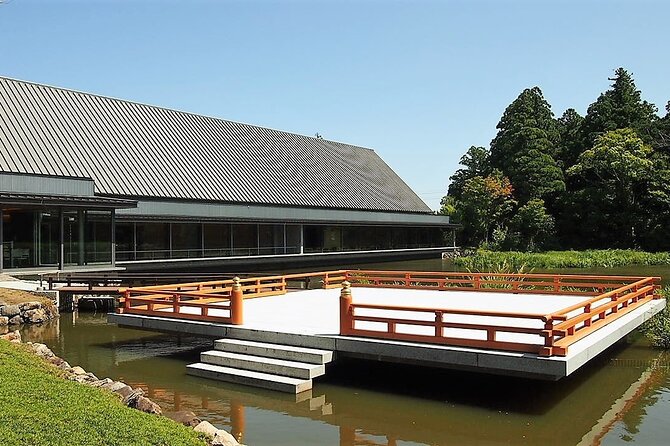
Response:
[[[670,277],[668,268],[607,272]],[[211,347],[209,339],[122,329],[91,313],[63,314],[23,335],[100,377],[142,387],[165,411],[192,410],[248,445],[670,444],[670,357],[637,334],[559,382],[349,362],[300,401],[187,376],[185,366]]]

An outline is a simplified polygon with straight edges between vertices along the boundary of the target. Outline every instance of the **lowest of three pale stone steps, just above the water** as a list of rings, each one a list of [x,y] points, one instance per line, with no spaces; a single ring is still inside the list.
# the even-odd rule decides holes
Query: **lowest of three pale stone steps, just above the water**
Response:
[[[252,370],[240,370],[214,364],[203,364],[201,362],[187,365],[186,373],[202,378],[294,394],[312,388],[311,379],[289,378],[287,376],[277,376]]]

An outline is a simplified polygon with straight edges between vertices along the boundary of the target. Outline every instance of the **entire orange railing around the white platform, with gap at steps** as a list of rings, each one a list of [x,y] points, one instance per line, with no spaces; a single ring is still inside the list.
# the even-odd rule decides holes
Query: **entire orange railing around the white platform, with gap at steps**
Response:
[[[124,290],[118,311],[129,314],[243,323],[244,299],[286,294],[320,280],[342,289],[340,334],[410,342],[565,356],[584,336],[652,299],[658,277],[336,270]],[[584,296],[550,314],[363,304],[351,287]],[[355,292],[354,292],[355,293]],[[355,297],[355,296],[354,296]],[[464,298],[467,298],[464,296]]]

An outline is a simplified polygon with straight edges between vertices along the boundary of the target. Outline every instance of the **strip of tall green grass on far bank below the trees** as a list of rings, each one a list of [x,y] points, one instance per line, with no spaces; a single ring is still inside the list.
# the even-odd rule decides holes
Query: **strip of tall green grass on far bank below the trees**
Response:
[[[502,252],[477,250],[473,255],[458,257],[455,264],[469,271],[517,271],[534,268],[612,268],[627,265],[670,265],[670,253],[651,253],[628,249]]]

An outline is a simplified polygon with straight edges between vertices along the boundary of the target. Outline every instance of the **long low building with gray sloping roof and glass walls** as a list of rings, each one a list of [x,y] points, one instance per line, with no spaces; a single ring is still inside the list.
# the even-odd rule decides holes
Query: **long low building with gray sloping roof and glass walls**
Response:
[[[373,151],[0,77],[0,270],[439,255]]]

